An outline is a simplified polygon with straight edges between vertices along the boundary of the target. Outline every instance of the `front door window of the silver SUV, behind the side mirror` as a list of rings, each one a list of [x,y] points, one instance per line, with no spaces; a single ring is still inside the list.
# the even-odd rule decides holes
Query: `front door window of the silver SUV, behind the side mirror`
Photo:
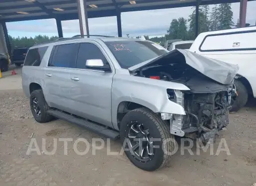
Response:
[[[88,59],[101,59],[104,64],[108,64],[108,60],[95,44],[80,43],[79,53],[77,55],[76,68],[85,69],[85,63]]]

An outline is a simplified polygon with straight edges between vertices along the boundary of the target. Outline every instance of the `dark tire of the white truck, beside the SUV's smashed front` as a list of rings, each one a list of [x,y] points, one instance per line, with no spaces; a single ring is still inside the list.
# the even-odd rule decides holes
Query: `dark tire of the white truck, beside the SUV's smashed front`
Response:
[[[241,81],[235,80],[234,85],[236,86],[238,96],[232,97],[232,107],[230,111],[238,111],[246,105],[248,100],[248,93],[245,85]]]

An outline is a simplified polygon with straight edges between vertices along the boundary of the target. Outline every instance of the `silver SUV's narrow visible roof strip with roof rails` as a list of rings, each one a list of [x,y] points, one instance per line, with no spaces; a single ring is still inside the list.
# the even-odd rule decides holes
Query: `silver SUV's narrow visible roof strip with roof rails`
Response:
[[[38,44],[35,44],[35,46],[31,47],[31,48],[39,48],[39,47],[43,47],[43,46],[49,46],[51,44],[61,44],[61,43],[66,43],[68,42],[69,40],[81,40],[81,41],[86,41],[86,40],[94,40],[94,41],[97,41],[97,40],[101,40],[102,42],[114,42],[114,41],[122,41],[122,40],[133,40],[133,41],[144,41],[144,40],[141,40],[141,39],[136,39],[136,38],[119,38],[119,37],[109,37],[109,36],[97,36],[97,37],[90,37],[90,38],[78,38],[78,37],[74,37],[74,38],[61,38],[61,39],[57,39],[57,40],[54,40],[52,42],[47,42],[47,43],[38,43]],[[150,42],[150,41],[148,41]]]

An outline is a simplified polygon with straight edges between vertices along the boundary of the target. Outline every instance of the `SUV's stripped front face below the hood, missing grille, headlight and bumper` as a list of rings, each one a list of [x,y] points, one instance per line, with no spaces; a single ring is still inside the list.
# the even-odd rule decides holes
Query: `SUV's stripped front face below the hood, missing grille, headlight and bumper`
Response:
[[[229,124],[232,86],[216,93],[167,90],[170,101],[184,107],[186,115],[173,114],[170,119],[171,133],[202,142],[216,139],[218,131]]]

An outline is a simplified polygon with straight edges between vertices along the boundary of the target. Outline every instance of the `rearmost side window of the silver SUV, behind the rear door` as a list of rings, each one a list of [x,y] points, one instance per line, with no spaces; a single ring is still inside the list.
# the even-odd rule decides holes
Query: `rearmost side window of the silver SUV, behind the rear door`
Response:
[[[27,53],[24,66],[39,66],[48,47],[30,49]]]

